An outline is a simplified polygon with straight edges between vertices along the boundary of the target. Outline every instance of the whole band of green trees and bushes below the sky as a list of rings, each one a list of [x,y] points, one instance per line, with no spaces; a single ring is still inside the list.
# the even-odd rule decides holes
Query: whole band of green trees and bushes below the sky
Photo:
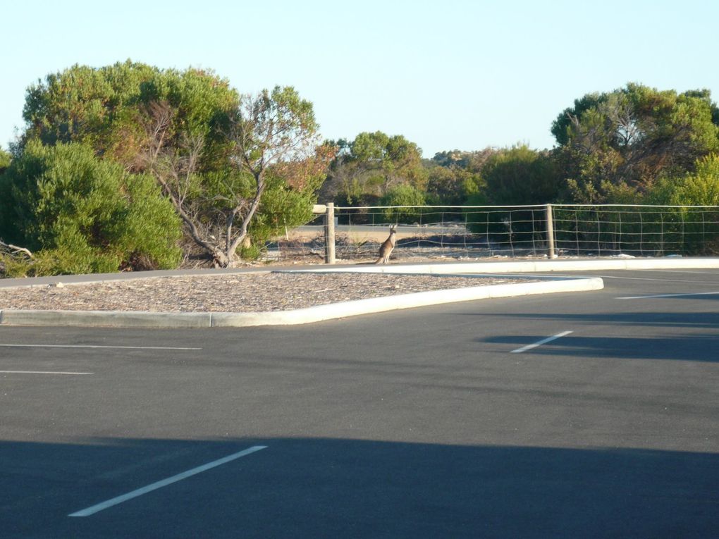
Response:
[[[430,159],[383,132],[322,142],[291,87],[249,95],[211,71],[130,61],[47,75],[23,116],[0,149],[0,275],[231,266],[318,200],[719,204],[719,109],[705,90],[588,94],[550,126],[554,149]]]

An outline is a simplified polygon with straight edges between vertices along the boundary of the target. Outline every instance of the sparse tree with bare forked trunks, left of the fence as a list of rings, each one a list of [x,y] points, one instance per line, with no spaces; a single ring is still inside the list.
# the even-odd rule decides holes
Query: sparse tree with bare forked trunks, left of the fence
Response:
[[[173,123],[170,106],[157,103],[152,107],[145,166],[162,185],[193,241],[217,265],[229,267],[238,262],[238,249],[247,246],[270,176],[274,187],[270,191],[285,205],[275,200],[265,204],[265,210],[274,207],[288,211],[284,222],[290,226],[298,224],[298,214],[310,217],[311,204],[306,203],[306,196],[291,197],[292,186],[282,185],[281,181],[283,172],[289,178],[290,169],[297,172],[298,165],[320,159],[316,151],[319,126],[312,103],[302,99],[294,88],[278,86],[273,91],[240,98],[228,119],[225,136],[231,145],[224,167],[219,170],[202,170],[205,134],[186,133],[179,147],[168,143],[173,139],[168,134]],[[315,181],[308,182],[311,191],[316,188]],[[307,194],[303,188],[296,190]],[[307,213],[293,213],[286,204],[293,200],[306,206]],[[272,219],[265,219],[265,227],[268,222]]]

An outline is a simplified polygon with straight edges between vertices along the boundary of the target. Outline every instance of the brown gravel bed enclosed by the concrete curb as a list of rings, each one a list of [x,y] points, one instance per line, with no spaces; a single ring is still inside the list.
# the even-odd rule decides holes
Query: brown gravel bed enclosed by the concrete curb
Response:
[[[372,273],[239,273],[0,289],[0,309],[247,313],[449,288],[527,282]]]

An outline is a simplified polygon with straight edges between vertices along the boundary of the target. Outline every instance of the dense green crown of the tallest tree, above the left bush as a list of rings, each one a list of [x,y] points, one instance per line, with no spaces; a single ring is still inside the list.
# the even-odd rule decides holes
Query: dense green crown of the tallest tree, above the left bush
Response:
[[[129,60],[103,68],[74,65],[28,88],[23,144],[83,142],[99,155],[132,163],[146,143],[143,124],[152,103],[173,110],[168,137],[175,142],[183,133],[217,141],[216,128],[237,99],[226,80],[202,70],[160,70]]]

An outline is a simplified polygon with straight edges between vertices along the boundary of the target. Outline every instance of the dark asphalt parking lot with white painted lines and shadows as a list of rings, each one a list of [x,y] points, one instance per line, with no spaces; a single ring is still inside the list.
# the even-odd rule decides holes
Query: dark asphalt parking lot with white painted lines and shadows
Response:
[[[8,538],[719,527],[719,270],[285,328],[0,326]]]

